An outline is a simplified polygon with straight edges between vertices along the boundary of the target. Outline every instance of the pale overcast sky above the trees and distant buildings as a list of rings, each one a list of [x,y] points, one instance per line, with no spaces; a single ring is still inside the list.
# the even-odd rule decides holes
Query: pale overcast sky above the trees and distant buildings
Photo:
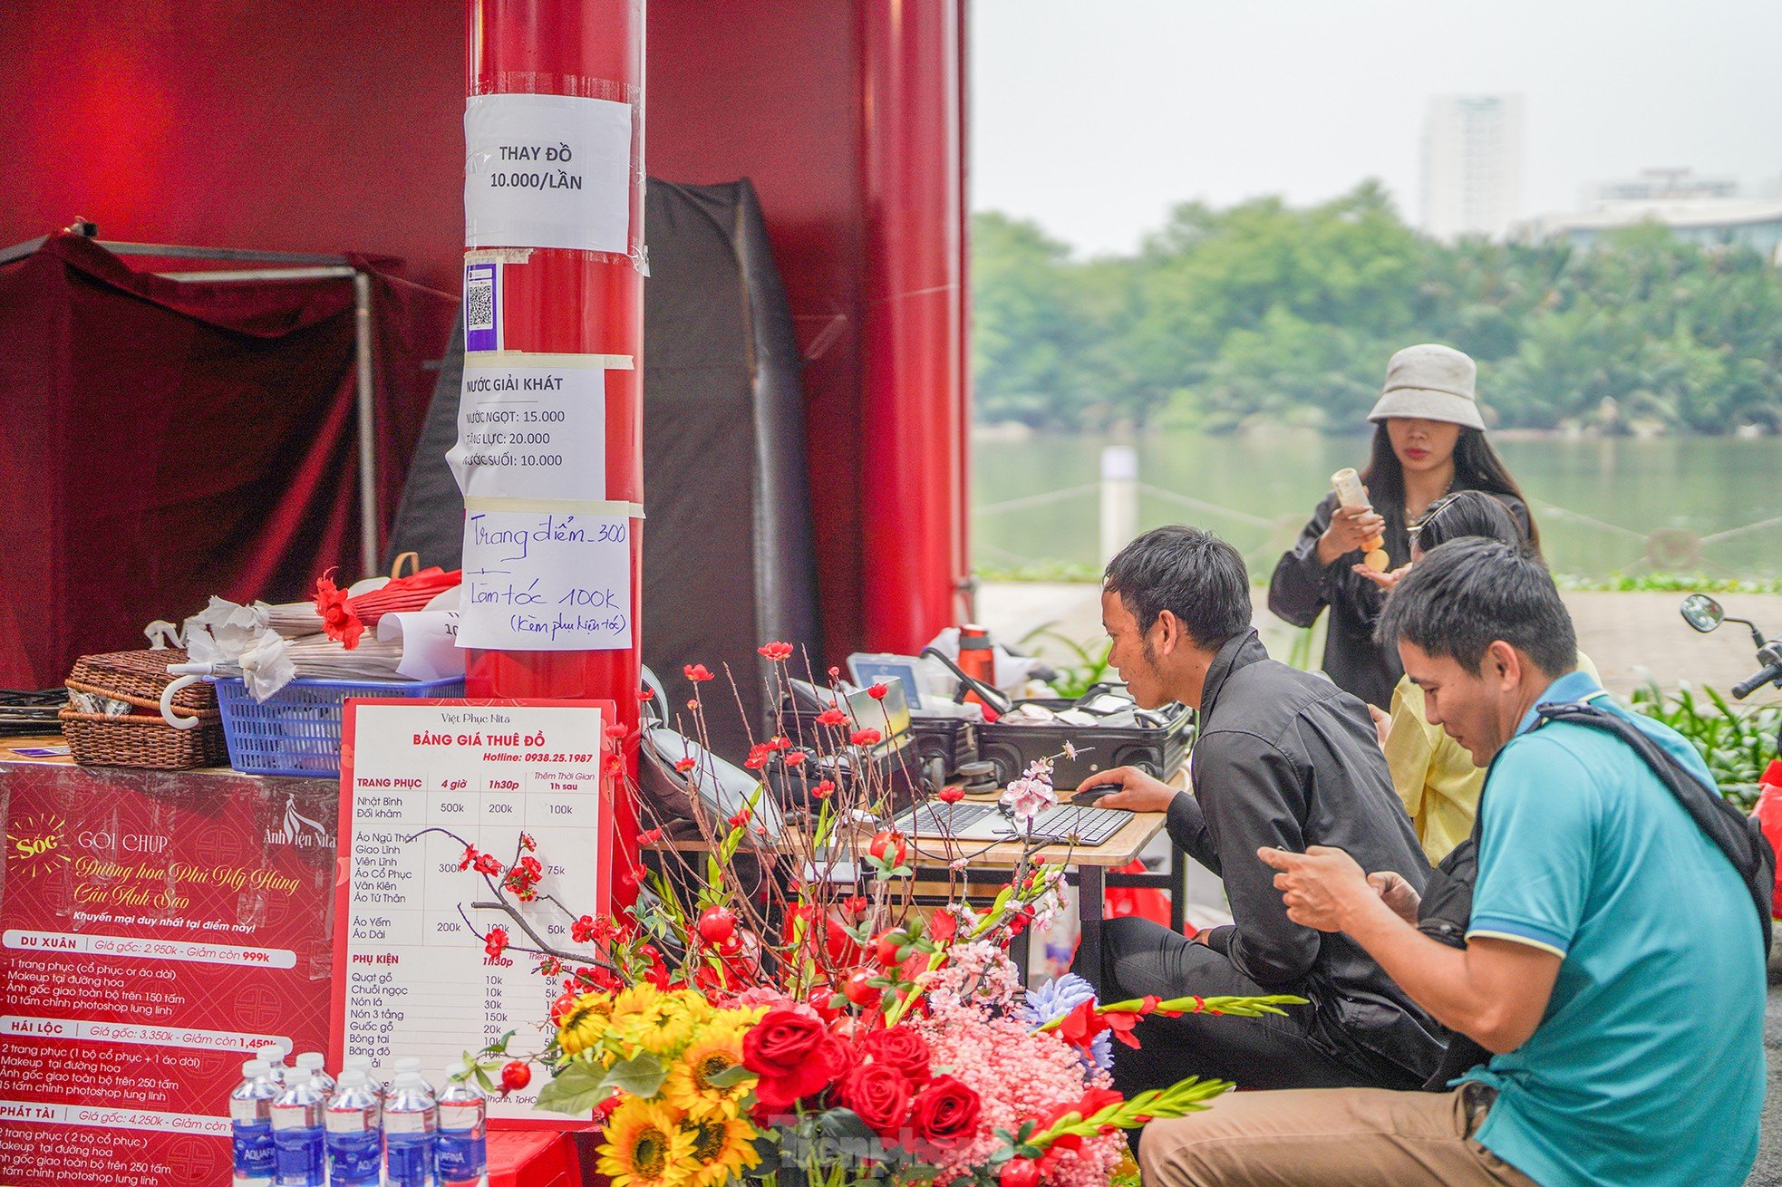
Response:
[[[1522,216],[1645,168],[1782,191],[1782,0],[969,0],[971,205],[1083,253],[1176,201],[1381,178],[1426,103],[1524,96]]]

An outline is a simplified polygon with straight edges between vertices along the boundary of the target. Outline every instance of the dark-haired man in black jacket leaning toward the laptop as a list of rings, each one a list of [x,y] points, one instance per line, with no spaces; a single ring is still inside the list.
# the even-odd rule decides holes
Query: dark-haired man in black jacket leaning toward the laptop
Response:
[[[1194,791],[1130,766],[1083,790],[1117,786],[1101,807],[1167,811],[1169,838],[1224,879],[1228,927],[1194,941],[1149,920],[1103,925],[1101,968],[1078,970],[1101,1000],[1296,993],[1285,1018],[1149,1016],[1121,1048],[1114,1084],[1132,1094],[1189,1075],[1242,1087],[1394,1087],[1424,1084],[1440,1028],[1354,941],[1287,918],[1262,847],[1354,854],[1392,896],[1422,893],[1429,863],[1392,790],[1367,708],[1322,675],[1269,659],[1251,627],[1249,574],[1237,551],[1196,528],[1158,528],[1108,563],[1101,620],[1110,661],[1144,708],[1199,711]]]

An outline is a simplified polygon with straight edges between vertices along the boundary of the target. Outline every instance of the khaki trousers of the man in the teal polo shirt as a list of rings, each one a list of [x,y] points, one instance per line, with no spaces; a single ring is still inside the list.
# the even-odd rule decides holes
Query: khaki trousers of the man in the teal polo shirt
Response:
[[[1205,1112],[1144,1126],[1144,1187],[1531,1187],[1472,1141],[1492,1093],[1299,1089],[1228,1093]]]

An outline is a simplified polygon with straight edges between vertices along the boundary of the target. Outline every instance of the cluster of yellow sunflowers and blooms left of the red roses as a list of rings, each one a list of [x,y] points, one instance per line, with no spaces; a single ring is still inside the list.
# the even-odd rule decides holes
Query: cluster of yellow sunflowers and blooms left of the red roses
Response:
[[[601,1173],[613,1187],[718,1187],[761,1162],[741,1116],[752,1080],[720,1087],[711,1078],[743,1062],[743,1034],[763,1012],[642,984],[584,993],[561,1016],[565,1055],[602,1068],[652,1055],[665,1068],[654,1096],[625,1094],[606,1121]]]

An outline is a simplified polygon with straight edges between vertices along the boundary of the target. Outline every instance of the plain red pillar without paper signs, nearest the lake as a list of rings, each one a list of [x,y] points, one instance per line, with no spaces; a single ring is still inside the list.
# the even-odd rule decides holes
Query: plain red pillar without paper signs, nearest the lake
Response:
[[[861,0],[866,649],[966,615],[960,0]]]

